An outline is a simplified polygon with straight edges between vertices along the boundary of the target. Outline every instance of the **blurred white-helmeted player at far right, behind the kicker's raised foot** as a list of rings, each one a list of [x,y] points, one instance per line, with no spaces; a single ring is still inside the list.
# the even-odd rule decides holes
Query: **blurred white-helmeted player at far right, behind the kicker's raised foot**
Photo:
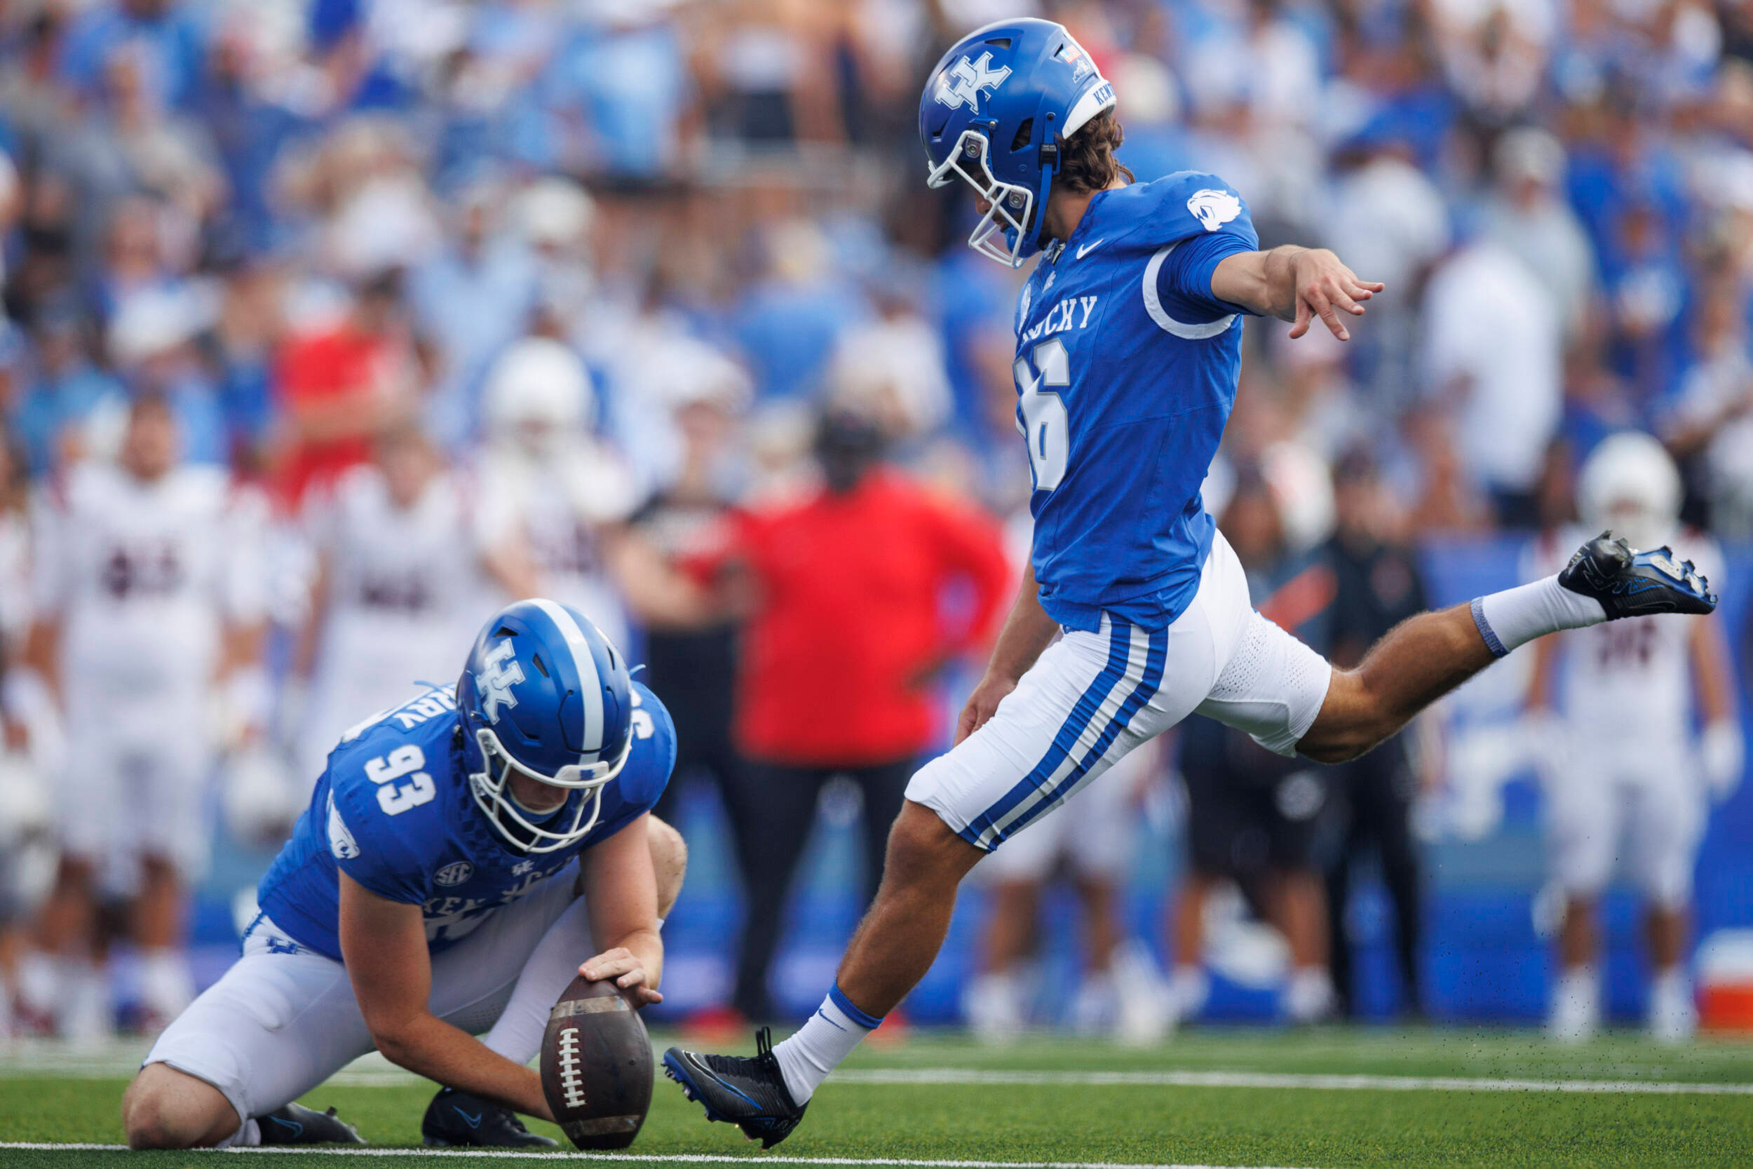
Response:
[[[1646,549],[1683,538],[1706,573],[1721,563],[1707,536],[1681,533],[1679,471],[1648,435],[1625,431],[1595,447],[1576,496],[1583,531],[1611,528]],[[1576,535],[1546,538],[1536,549],[1536,571],[1548,571]],[[1693,701],[1704,727],[1697,740]],[[1686,976],[1692,869],[1709,799],[1734,790],[1742,764],[1721,622],[1669,613],[1543,641],[1529,706],[1557,715],[1544,768],[1546,822],[1565,904],[1550,1031],[1576,1041],[1600,1027],[1597,910],[1615,857],[1623,855],[1646,903],[1655,971],[1650,1031],[1685,1039],[1699,1024]]]

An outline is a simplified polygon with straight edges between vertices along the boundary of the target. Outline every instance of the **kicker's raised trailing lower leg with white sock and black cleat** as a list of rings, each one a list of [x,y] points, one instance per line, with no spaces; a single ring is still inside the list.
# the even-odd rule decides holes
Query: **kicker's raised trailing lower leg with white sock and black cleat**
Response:
[[[1390,629],[1355,670],[1334,670],[1320,713],[1295,750],[1343,762],[1383,741],[1413,715],[1534,638],[1644,613],[1709,613],[1716,598],[1665,549],[1632,554],[1595,538],[1571,564],[1532,584],[1420,613]]]

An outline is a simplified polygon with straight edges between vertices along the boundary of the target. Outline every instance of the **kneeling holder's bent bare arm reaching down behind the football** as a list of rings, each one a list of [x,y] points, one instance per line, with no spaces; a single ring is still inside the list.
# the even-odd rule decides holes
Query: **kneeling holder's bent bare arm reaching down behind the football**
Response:
[[[554,1118],[538,1073],[426,1008],[433,971],[421,906],[379,897],[342,873],[340,953],[372,1041],[389,1062],[524,1115]]]

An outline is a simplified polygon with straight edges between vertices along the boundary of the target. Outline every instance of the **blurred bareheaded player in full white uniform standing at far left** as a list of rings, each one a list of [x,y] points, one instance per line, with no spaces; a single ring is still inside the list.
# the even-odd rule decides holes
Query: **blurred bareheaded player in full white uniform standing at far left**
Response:
[[[26,1011],[70,1038],[110,1031],[98,904],[130,901],[144,1029],[195,997],[184,890],[207,866],[214,699],[259,731],[265,507],[184,464],[163,398],[137,398],[114,464],[75,464],[37,528],[26,655],[58,698],[61,866],[21,973]],[[254,731],[249,731],[254,733]]]

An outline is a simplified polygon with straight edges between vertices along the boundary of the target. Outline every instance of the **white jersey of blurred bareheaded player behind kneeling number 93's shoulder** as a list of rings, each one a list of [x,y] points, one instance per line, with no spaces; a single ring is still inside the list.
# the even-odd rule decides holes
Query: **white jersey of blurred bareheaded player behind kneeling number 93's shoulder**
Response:
[[[314,780],[347,727],[419,682],[454,680],[491,605],[452,473],[433,475],[403,508],[377,466],[354,466],[312,501],[307,524],[328,570],[302,759]]]

